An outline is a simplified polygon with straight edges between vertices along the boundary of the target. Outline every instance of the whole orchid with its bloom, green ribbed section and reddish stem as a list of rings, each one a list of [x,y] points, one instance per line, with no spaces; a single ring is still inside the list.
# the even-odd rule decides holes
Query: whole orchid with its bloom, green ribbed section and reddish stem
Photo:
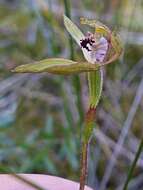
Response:
[[[81,24],[92,27],[95,31],[85,35],[66,16],[64,24],[80,46],[85,61],[78,62],[64,58],[48,58],[39,62],[21,65],[13,71],[17,73],[76,74],[87,72],[89,85],[89,109],[85,116],[81,150],[80,190],[84,190],[87,175],[87,150],[94,128],[96,106],[100,100],[103,86],[103,66],[117,60],[122,53],[119,36],[107,26],[96,20],[81,18]]]

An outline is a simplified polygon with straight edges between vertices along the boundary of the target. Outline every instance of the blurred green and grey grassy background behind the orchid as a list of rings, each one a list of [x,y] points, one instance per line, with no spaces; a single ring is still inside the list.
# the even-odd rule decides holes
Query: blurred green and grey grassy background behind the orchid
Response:
[[[104,22],[124,44],[121,59],[105,68],[88,176],[95,189],[120,190],[143,137],[142,0],[0,0],[0,164],[14,172],[79,180],[86,75],[11,73],[47,57],[84,59],[65,31],[65,12],[77,25],[80,17]],[[133,189],[143,189],[143,154]]]

